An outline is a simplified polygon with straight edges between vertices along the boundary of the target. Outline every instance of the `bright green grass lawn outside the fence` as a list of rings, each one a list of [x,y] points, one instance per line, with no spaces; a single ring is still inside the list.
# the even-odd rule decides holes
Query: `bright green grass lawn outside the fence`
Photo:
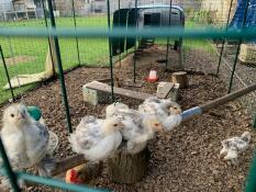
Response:
[[[104,15],[76,18],[77,26],[82,27],[107,27],[108,20]],[[49,23],[49,21],[48,21]],[[56,18],[57,27],[74,26],[73,18]],[[25,20],[16,22],[0,22],[0,26],[45,26],[45,21],[40,20]],[[186,27],[192,27],[192,22],[187,22]],[[109,65],[109,47],[107,38],[93,38],[86,39],[79,38],[79,54],[81,65],[87,66],[108,66]],[[166,39],[157,39],[159,44],[166,44]],[[29,38],[29,37],[7,37],[0,36],[0,44],[3,49],[5,59],[9,61],[8,70],[10,77],[24,74],[35,74],[44,71],[44,64],[48,49],[47,38]],[[59,38],[60,55],[64,69],[67,70],[79,64],[77,56],[77,47],[75,38]],[[186,39],[186,49],[208,47],[205,41],[192,41]],[[209,46],[210,47],[210,46]],[[32,60],[19,60],[16,56],[32,56]],[[0,103],[11,98],[10,91],[2,90],[2,87],[7,83],[5,72],[2,61],[0,60]],[[14,90],[14,93],[21,93],[24,90],[32,88],[26,86]]]

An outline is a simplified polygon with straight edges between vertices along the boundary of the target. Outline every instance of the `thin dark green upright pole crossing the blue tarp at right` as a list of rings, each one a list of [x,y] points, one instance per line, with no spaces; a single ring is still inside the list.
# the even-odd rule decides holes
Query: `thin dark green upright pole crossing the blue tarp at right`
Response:
[[[246,20],[247,20],[248,5],[249,5],[249,0],[246,1],[246,9],[245,9],[245,14],[244,14],[244,18],[243,18],[243,26],[242,26],[243,29],[244,29]],[[230,86],[229,86],[227,93],[231,92],[231,89],[232,89],[232,86],[233,86],[234,74],[235,74],[235,68],[236,68],[236,64],[237,64],[237,60],[238,60],[241,44],[242,44],[242,38],[240,37],[238,48],[237,48],[236,54],[235,54],[235,60],[234,60],[233,69],[232,69],[232,72],[231,72],[231,79],[230,79]]]

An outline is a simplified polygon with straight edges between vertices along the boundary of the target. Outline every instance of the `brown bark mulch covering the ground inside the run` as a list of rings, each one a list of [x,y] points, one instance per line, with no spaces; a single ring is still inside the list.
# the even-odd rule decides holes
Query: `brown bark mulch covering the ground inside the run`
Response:
[[[180,91],[179,103],[183,110],[212,101],[226,93],[225,86],[220,79],[193,70],[202,65],[194,61],[201,60],[194,58],[202,57],[201,52],[194,50],[186,56],[186,59],[191,59],[191,66],[188,66],[190,69],[188,71],[189,87]],[[162,81],[169,81],[171,72],[164,70],[164,64],[156,63],[157,59],[165,58],[164,54],[164,50],[154,47],[147,50],[145,56],[140,56],[137,59],[137,79],[143,80],[148,75],[149,69],[155,68]],[[188,60],[187,64],[189,64]],[[132,79],[132,66],[116,67],[115,75],[122,80]],[[85,115],[100,116],[104,114],[107,104],[92,106],[85,103],[81,88],[92,80],[109,78],[108,68],[81,67],[68,72],[65,78],[73,128],[78,125],[80,118]],[[124,84],[123,81],[120,83]],[[142,88],[130,89],[155,93],[156,86],[156,83],[144,83]],[[141,103],[129,98],[118,97],[118,100],[134,109]],[[45,83],[41,88],[25,93],[23,101],[26,104],[40,106],[47,126],[59,136],[60,145],[55,157],[64,158],[74,155],[67,142],[68,134],[59,81]],[[104,169],[97,187],[127,192],[241,192],[251,165],[255,143],[255,133],[251,129],[249,123],[248,115],[236,101],[211,110],[209,113],[187,122],[169,133],[157,135],[155,139],[149,142],[148,173],[142,181],[135,184],[112,183]],[[234,167],[221,160],[219,158],[221,142],[241,135],[245,131],[251,131],[253,140],[249,148],[240,156],[240,165]],[[30,188],[27,191],[46,192],[54,190],[46,187],[36,187]]]

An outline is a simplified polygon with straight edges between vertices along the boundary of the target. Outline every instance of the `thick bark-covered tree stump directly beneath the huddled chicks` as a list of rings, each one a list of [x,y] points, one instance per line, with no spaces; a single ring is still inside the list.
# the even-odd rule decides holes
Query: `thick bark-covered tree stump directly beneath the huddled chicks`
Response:
[[[147,171],[148,149],[138,154],[120,153],[108,160],[110,179],[115,183],[131,184],[141,181]]]

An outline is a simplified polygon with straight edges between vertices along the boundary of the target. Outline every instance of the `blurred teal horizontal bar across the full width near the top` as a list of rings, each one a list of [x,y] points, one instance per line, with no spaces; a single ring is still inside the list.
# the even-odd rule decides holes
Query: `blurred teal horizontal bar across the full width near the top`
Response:
[[[87,37],[87,38],[99,38],[99,37],[147,37],[147,36],[157,36],[157,37],[183,37],[183,38],[243,38],[246,41],[255,39],[256,27],[249,27],[241,31],[227,31],[219,29],[187,29],[182,27],[148,27],[137,31],[134,27],[121,27],[114,29],[111,32],[104,27],[90,27],[84,29],[79,27],[77,31],[74,27],[1,27],[1,36],[33,36],[33,37],[47,37],[47,36],[58,36],[58,37]]]

